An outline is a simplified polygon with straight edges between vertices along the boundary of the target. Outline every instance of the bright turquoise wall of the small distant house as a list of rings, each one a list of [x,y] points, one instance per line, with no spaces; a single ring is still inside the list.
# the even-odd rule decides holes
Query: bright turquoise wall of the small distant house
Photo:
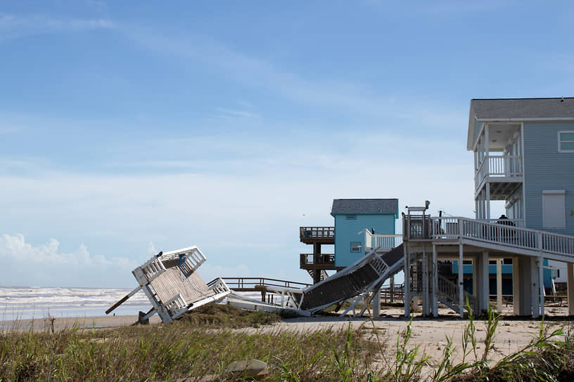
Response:
[[[351,252],[351,243],[359,242],[364,246],[364,234],[357,232],[365,228],[375,229],[375,234],[392,235],[395,233],[395,214],[390,215],[354,215],[355,220],[348,220],[347,215],[335,215],[335,266],[347,267],[364,256],[360,252]]]

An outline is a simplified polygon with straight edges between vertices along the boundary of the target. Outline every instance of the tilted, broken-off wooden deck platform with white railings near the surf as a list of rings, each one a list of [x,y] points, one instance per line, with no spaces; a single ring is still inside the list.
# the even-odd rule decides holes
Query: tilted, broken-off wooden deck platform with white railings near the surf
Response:
[[[222,279],[205,284],[196,272],[207,260],[196,246],[160,252],[132,271],[139,286],[106,310],[106,315],[142,290],[153,308],[140,320],[158,313],[170,322],[188,310],[221,301],[231,292]]]

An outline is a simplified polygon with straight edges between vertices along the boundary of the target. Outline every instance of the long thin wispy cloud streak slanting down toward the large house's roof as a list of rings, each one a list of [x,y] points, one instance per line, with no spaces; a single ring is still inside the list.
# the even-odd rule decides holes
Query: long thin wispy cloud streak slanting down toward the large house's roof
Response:
[[[454,112],[457,109],[445,107],[439,101],[417,100],[413,95],[404,100],[395,95],[374,93],[369,84],[318,79],[317,76],[308,79],[304,74],[235,51],[210,37],[186,35],[182,39],[181,36],[151,33],[148,29],[133,25],[120,29],[127,37],[151,51],[176,55],[193,64],[208,63],[221,70],[226,77],[244,86],[264,88],[276,97],[288,98],[312,107],[330,107],[333,110],[345,110],[350,114],[399,118],[417,123],[420,121],[433,123],[433,119],[428,117],[440,111],[444,111],[447,115],[446,121],[451,120],[451,114],[457,114]],[[442,118],[440,126],[444,125],[445,118]]]

